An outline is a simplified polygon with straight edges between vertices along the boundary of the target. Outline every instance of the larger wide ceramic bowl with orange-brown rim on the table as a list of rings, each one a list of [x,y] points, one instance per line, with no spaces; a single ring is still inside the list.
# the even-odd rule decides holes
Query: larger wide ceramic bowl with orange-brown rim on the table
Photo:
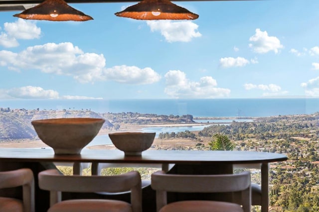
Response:
[[[52,118],[31,121],[39,138],[55,154],[80,154],[100,131],[102,118]]]

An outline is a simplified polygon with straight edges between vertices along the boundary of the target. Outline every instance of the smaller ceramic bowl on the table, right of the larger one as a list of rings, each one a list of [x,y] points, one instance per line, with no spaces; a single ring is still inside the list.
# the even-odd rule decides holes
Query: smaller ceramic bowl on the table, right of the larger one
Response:
[[[142,152],[151,147],[155,132],[114,132],[109,133],[112,143],[126,156],[142,155]]]

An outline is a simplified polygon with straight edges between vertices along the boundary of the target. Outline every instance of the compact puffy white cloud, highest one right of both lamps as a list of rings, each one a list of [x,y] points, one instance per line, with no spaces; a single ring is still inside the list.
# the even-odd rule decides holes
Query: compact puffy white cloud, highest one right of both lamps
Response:
[[[249,41],[253,42],[249,44],[249,47],[256,53],[267,53],[274,51],[276,54],[284,46],[280,44],[280,40],[274,36],[268,36],[267,31],[261,31],[256,29],[256,33],[249,38]]]

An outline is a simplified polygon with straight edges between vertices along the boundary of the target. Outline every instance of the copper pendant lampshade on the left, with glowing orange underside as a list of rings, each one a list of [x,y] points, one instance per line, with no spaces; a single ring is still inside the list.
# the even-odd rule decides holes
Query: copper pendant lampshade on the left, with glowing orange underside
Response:
[[[45,0],[35,7],[13,15],[23,19],[51,21],[86,21],[93,18],[69,6],[64,0]]]

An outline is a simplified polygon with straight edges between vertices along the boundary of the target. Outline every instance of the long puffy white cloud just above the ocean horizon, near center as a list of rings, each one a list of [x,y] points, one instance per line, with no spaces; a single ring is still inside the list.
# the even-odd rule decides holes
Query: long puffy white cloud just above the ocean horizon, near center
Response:
[[[171,70],[165,74],[164,92],[173,98],[221,98],[230,95],[230,89],[216,88],[217,82],[212,77],[202,77],[199,82],[192,82],[186,74],[179,70]]]

